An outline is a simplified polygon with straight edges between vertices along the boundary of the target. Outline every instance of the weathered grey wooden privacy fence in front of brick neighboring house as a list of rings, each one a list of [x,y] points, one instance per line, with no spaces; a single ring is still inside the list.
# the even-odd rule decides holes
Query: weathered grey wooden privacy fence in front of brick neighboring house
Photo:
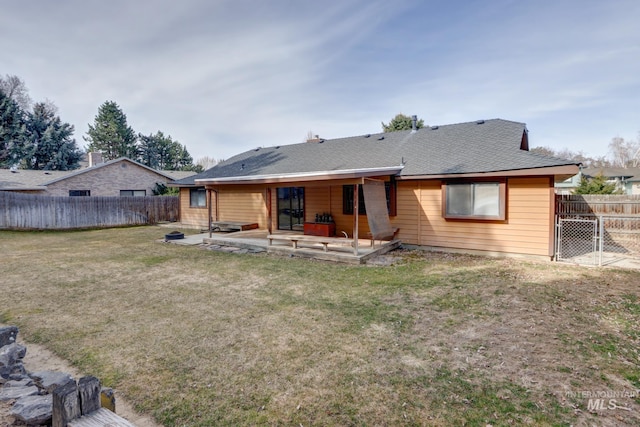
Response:
[[[53,197],[0,191],[0,229],[64,230],[178,221],[179,198]]]

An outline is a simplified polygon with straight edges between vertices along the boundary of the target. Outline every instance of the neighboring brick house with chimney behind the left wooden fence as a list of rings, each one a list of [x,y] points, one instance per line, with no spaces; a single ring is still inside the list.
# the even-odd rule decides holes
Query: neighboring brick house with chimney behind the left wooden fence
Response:
[[[167,184],[195,172],[158,171],[126,157],[96,162],[74,171],[0,169],[0,191],[49,196],[151,196]]]

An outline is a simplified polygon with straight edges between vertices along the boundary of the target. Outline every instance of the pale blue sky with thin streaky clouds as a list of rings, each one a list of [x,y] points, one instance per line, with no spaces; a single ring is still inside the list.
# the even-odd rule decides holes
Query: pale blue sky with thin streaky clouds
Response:
[[[638,0],[3,1],[0,74],[75,126],[118,103],[198,159],[428,125],[524,122],[603,156],[640,131]]]

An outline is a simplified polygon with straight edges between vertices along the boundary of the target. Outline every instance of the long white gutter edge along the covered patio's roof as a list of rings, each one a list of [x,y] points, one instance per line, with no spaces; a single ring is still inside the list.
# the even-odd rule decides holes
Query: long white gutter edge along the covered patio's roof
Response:
[[[276,184],[282,182],[312,182],[334,179],[365,178],[381,175],[397,175],[404,165],[381,168],[343,169],[337,171],[295,172],[268,175],[245,175],[226,178],[196,179],[196,185],[213,184]]]

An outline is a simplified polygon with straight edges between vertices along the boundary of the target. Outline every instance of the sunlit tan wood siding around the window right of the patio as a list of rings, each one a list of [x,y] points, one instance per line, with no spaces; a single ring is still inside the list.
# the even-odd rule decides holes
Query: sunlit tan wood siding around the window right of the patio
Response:
[[[452,249],[551,256],[553,204],[549,178],[510,178],[507,221],[447,221],[442,218],[440,181],[419,185],[418,243]],[[399,204],[400,205],[400,204]],[[408,238],[403,241],[412,243]]]

